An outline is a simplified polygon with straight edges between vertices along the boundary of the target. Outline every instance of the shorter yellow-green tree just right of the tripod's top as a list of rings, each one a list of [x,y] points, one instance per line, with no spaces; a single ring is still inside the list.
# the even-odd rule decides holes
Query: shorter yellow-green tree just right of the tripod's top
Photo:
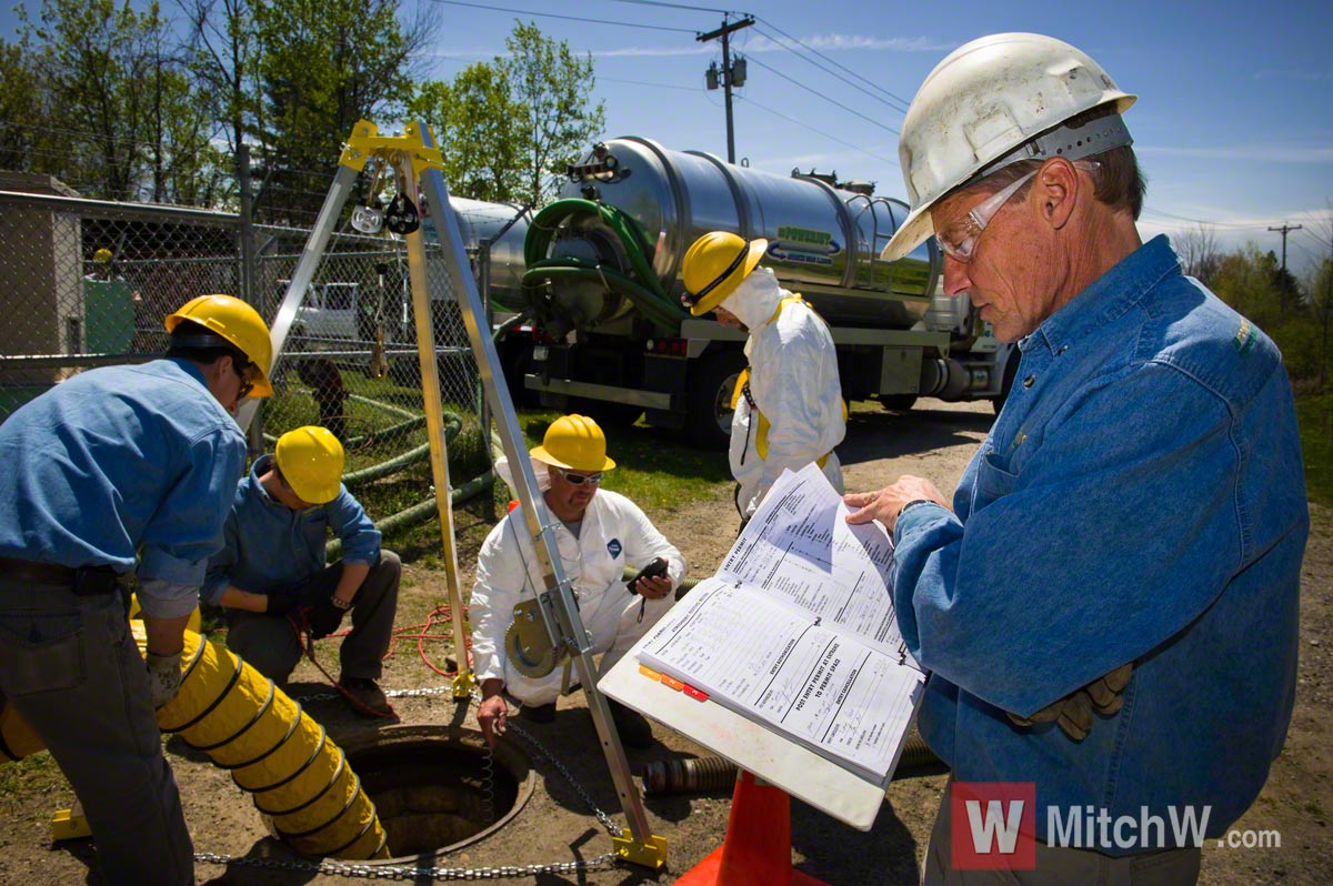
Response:
[[[491,203],[527,200],[520,109],[503,68],[483,61],[468,65],[452,84],[423,84],[408,116],[435,131],[451,193]]]

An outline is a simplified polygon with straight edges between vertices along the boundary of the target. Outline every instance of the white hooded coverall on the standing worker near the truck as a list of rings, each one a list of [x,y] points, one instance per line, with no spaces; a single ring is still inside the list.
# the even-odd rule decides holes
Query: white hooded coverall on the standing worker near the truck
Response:
[[[800,470],[830,453],[824,476],[842,492],[842,466],[833,448],[846,434],[837,352],[828,326],[808,305],[778,302],[792,293],[777,285],[768,268],[756,268],[722,302],[749,338],[750,396],[769,421],[768,453],[758,457],[758,416],[742,396],[732,416],[732,476],[740,484],[736,509],[749,518],[784,468]]]

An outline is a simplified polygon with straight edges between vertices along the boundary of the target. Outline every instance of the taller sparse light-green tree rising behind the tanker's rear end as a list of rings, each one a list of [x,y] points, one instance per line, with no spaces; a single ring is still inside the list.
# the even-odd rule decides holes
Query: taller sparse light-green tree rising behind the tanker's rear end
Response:
[[[565,167],[575,163],[605,125],[601,101],[589,105],[596,87],[592,55],[579,59],[564,40],[541,36],[536,24],[515,23],[505,39],[509,55],[496,59],[517,105],[527,156],[524,200],[539,205],[551,197]]]

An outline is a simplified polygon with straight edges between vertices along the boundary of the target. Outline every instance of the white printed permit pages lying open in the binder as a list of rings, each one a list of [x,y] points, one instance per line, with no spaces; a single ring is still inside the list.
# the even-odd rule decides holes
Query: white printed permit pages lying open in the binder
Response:
[[[893,609],[893,542],[849,526],[816,465],[785,472],[717,574],[639,645],[652,669],[886,781],[925,685]]]

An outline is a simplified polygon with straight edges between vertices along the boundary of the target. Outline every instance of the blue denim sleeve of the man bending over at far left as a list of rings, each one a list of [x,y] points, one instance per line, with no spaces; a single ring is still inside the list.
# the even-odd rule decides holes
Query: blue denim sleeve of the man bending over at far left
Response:
[[[195,440],[157,513],[144,528],[140,578],[199,588],[208,558],[223,545],[223,522],[245,468],[245,442],[235,428]]]

